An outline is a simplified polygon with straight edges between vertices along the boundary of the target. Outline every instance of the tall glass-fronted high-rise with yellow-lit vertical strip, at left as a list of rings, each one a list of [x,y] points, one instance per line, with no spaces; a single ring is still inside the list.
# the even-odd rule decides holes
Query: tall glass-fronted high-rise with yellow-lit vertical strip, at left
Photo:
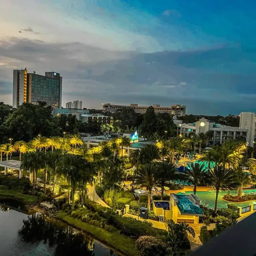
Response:
[[[27,73],[27,69],[13,70],[13,108],[24,102],[44,101],[52,108],[61,107],[62,77],[56,72],[45,75]]]

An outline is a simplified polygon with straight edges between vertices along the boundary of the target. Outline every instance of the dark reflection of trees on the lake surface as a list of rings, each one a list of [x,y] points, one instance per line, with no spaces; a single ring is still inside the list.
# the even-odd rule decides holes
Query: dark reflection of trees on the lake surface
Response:
[[[56,256],[94,256],[94,242],[90,237],[76,233],[71,227],[60,228],[47,222],[43,216],[28,216],[27,220],[23,220],[19,235],[27,243],[43,241],[49,246],[56,245]]]

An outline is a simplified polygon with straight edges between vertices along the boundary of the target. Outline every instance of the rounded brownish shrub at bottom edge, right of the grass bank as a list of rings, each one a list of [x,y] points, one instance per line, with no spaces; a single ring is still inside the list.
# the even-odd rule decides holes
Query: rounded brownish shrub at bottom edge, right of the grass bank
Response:
[[[164,256],[166,253],[166,245],[153,236],[141,236],[135,245],[141,256]]]

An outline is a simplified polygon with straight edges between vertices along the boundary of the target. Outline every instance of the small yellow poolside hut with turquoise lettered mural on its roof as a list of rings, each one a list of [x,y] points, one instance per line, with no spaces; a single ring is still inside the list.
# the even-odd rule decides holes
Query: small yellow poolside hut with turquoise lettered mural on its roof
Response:
[[[200,200],[196,195],[170,194],[169,201],[153,200],[153,212],[162,217],[163,222],[173,220],[175,223],[186,222],[199,224],[199,217],[204,216]]]

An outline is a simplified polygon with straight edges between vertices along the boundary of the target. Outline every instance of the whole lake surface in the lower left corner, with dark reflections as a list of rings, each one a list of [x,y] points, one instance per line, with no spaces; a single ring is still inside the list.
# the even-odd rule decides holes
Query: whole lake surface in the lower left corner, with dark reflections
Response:
[[[44,215],[0,211],[0,255],[5,256],[117,256],[89,235]]]

